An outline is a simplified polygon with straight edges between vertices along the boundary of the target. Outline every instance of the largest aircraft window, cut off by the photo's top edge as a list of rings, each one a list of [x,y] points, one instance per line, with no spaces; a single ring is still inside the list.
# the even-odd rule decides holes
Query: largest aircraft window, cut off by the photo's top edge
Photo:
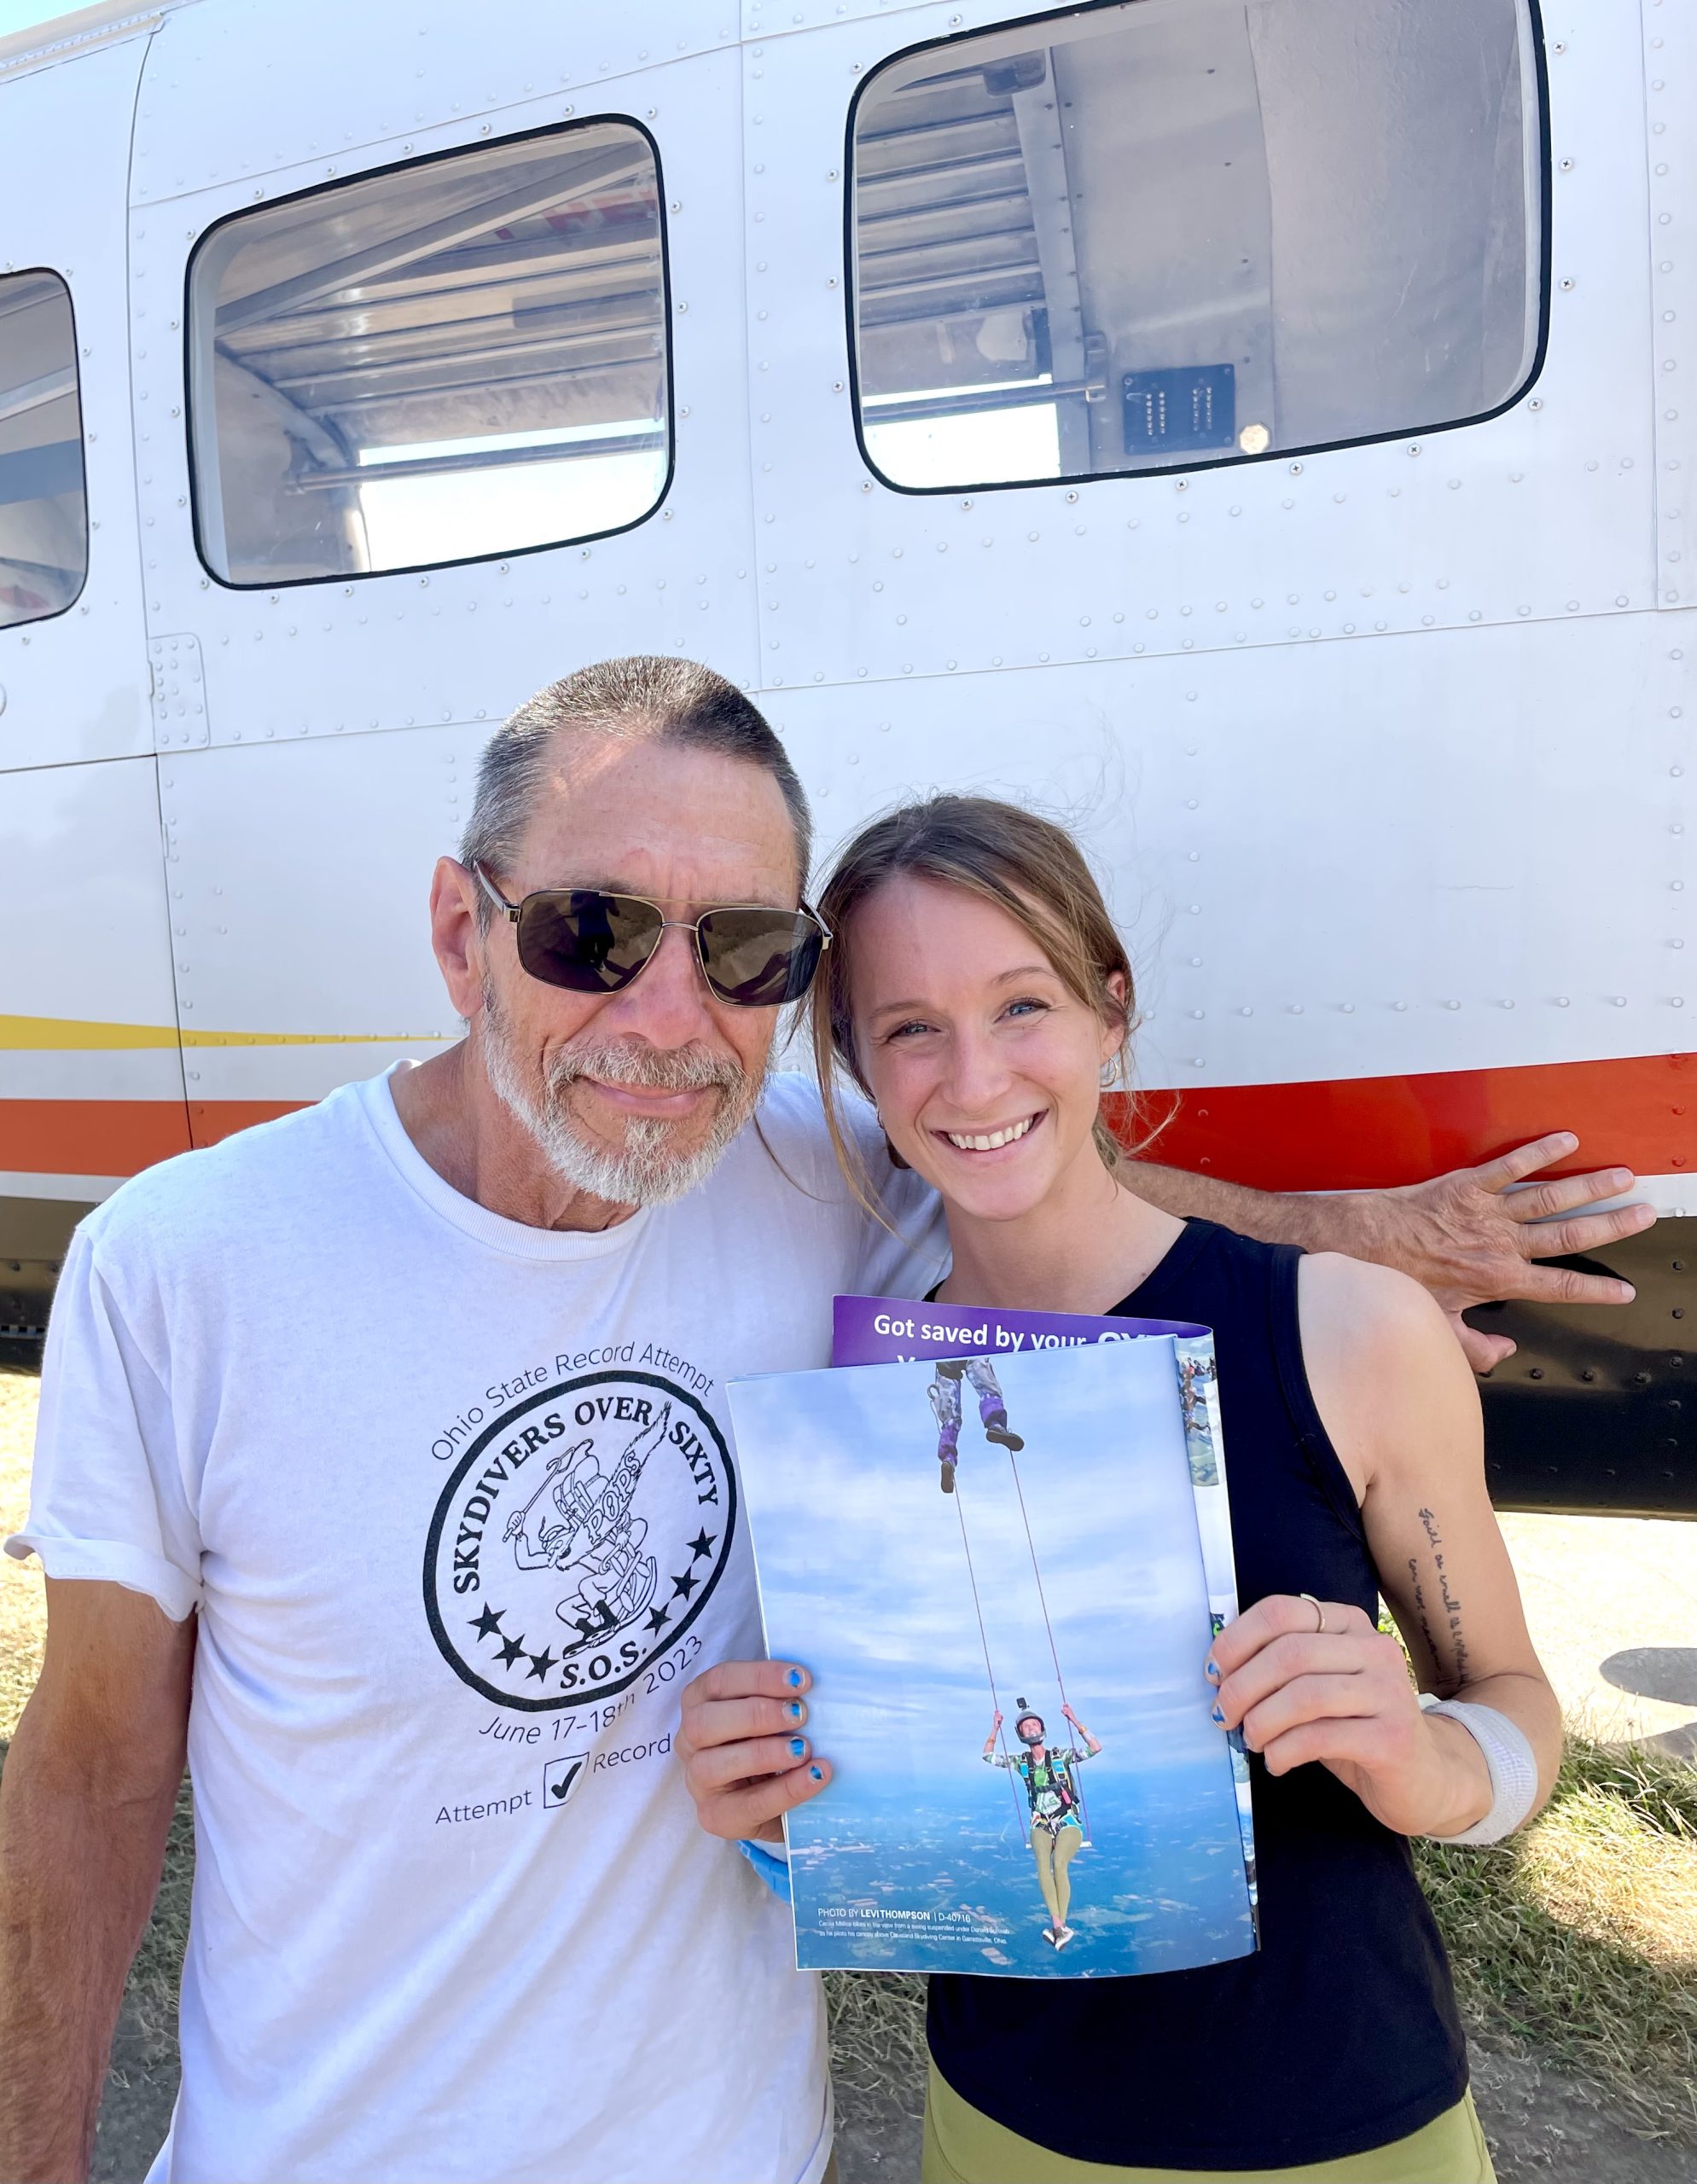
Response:
[[[1529,0],[1134,0],[871,74],[867,461],[917,491],[1424,432],[1538,367]]]

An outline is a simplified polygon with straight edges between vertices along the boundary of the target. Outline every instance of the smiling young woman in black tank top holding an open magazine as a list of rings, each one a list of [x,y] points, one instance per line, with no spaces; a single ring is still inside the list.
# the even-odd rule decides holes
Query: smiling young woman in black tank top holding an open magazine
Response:
[[[1487,2184],[1409,1837],[1522,1824],[1559,1712],[1441,1310],[1382,1267],[1138,1199],[1101,1116],[1127,1079],[1131,968],[1059,828],[976,797],[898,810],[847,850],[821,915],[826,1092],[845,1072],[941,1192],[939,1295],[1212,1326],[1232,1452],[1243,1612],[1197,1688],[1251,1752],[1260,1948],[1142,1979],[933,1979],[928,2184]],[[1422,1708],[1380,1594],[1450,1710]],[[806,1682],[732,1662],[688,1693],[679,1749],[712,1832],[771,1841],[828,1789],[797,1734]]]

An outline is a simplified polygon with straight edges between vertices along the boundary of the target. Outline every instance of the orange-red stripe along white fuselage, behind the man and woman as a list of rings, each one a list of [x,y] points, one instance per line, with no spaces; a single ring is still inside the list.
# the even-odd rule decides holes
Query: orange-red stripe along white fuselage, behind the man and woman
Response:
[[[0,1168],[133,1175],[299,1105],[0,1099]],[[1125,1127],[1125,1101],[1107,1105]],[[1579,1153],[1553,1173],[1621,1164],[1638,1175],[1677,1175],[1697,1171],[1697,1055],[1149,1092],[1140,1120],[1166,1125],[1151,1160],[1262,1190],[1415,1184],[1551,1129],[1579,1136]]]

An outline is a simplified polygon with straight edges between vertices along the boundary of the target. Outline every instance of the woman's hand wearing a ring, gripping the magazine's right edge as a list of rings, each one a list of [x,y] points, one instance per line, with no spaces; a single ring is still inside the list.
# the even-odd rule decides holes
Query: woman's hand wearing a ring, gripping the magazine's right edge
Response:
[[[1426,1719],[1402,1647],[1361,1607],[1273,1592],[1214,1638],[1208,1679],[1214,1721],[1269,1773],[1319,1760],[1398,1835],[1461,1835],[1490,1811],[1483,1752]]]

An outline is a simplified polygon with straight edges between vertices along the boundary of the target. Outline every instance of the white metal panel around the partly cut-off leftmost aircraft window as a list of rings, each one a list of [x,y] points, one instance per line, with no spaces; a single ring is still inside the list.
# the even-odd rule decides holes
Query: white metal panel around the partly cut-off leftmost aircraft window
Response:
[[[48,266],[70,288],[90,511],[76,603],[0,629],[0,771],[153,747],[124,277],[129,127],[144,50],[140,39],[107,46],[0,83],[0,273]]]

